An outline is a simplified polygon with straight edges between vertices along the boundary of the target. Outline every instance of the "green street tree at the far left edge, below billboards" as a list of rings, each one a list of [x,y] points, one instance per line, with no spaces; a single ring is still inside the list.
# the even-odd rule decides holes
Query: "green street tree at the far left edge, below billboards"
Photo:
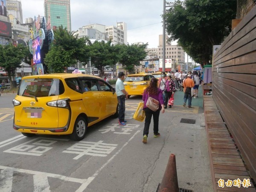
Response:
[[[15,71],[17,67],[20,67],[21,62],[25,58],[29,58],[28,47],[18,44],[15,47],[12,44],[0,45],[0,67],[3,67],[7,72],[8,79],[11,82],[11,88],[15,87],[14,81],[12,81],[12,76],[15,76]]]

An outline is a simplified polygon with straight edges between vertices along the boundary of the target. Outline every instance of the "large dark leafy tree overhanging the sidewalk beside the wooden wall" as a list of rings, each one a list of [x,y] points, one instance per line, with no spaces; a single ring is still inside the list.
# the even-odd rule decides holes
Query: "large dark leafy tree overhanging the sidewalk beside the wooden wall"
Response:
[[[221,44],[231,32],[236,17],[236,0],[175,0],[166,11],[166,32],[170,40],[200,64],[212,58],[213,45]]]

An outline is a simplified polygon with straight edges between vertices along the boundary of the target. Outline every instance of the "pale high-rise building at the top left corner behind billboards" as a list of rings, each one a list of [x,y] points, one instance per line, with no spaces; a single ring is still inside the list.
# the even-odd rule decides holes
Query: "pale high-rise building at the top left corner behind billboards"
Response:
[[[17,0],[6,0],[6,10],[9,21],[13,24],[23,23],[21,2]]]

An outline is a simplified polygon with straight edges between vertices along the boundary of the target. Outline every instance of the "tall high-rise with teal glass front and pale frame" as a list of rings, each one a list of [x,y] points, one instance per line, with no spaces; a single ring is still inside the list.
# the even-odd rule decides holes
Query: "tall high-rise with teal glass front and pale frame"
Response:
[[[44,16],[50,16],[51,28],[62,25],[71,31],[70,0],[44,0]]]

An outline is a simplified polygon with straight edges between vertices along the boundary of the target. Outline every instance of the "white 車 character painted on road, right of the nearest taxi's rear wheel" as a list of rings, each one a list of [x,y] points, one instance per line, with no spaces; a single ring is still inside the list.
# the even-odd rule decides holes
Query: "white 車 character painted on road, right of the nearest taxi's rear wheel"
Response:
[[[67,150],[62,152],[79,154],[73,158],[74,160],[78,160],[80,157],[83,157],[84,155],[106,157],[107,154],[110,154],[116,148],[117,145],[102,142],[103,141],[80,141],[79,143],[76,143],[75,145],[71,146],[70,148],[67,148]]]

